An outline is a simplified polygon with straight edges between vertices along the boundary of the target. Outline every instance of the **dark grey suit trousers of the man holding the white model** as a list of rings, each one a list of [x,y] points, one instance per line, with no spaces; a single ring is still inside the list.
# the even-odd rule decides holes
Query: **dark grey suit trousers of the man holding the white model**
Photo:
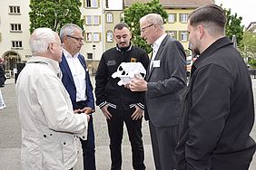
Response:
[[[179,126],[154,127],[149,121],[153,146],[153,160],[156,170],[172,170],[174,168],[174,148],[178,141]]]

